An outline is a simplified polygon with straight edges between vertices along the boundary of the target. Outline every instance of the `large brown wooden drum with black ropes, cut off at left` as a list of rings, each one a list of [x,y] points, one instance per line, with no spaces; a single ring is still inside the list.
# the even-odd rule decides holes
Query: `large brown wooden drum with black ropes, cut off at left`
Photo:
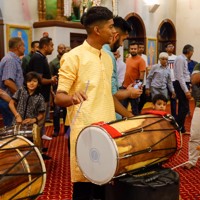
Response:
[[[38,148],[23,136],[0,137],[0,199],[36,199],[45,183]]]

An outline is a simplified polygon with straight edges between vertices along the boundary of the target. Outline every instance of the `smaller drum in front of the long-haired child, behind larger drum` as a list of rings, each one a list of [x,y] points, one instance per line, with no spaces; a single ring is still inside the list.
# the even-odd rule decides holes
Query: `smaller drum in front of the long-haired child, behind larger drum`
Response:
[[[29,139],[39,149],[42,147],[42,140],[40,136],[40,128],[37,124],[23,125],[17,124],[10,127],[5,127],[0,130],[0,138],[5,138],[14,135],[21,135]]]

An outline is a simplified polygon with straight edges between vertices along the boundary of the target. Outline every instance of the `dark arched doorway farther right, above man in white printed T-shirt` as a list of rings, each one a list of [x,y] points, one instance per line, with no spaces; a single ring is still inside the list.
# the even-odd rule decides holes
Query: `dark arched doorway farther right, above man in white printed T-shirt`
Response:
[[[165,51],[165,44],[172,42],[174,44],[174,53],[176,53],[176,29],[173,22],[165,19],[161,22],[157,32],[158,54]]]

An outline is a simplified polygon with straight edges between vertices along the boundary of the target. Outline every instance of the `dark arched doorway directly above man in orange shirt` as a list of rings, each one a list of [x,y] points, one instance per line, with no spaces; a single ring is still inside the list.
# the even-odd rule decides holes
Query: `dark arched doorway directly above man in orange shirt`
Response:
[[[131,41],[143,42],[146,48],[146,29],[142,18],[136,13],[130,13],[125,20],[132,27],[129,37],[124,41],[124,56],[128,53],[128,45]]]

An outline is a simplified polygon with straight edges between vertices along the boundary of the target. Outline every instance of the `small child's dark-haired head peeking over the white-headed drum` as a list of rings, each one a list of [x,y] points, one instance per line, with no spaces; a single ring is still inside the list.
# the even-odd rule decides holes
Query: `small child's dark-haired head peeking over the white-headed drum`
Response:
[[[162,94],[156,94],[153,99],[153,109],[159,111],[165,111],[168,99]]]

